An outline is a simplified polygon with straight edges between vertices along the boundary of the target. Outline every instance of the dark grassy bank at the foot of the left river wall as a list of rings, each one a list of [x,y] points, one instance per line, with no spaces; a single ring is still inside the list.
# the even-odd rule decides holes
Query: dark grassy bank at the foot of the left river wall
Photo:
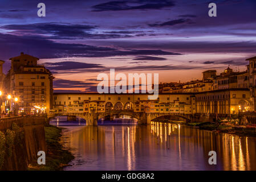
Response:
[[[48,125],[44,127],[46,136],[46,164],[38,165],[37,160],[33,160],[29,165],[29,170],[42,171],[58,171],[63,167],[68,166],[68,163],[74,159],[70,151],[64,150],[60,144],[60,137],[62,136],[62,128]]]

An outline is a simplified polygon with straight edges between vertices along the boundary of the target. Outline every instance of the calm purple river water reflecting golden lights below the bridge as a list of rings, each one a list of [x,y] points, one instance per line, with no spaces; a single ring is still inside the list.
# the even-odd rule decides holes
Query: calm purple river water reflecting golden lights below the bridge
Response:
[[[256,170],[253,137],[161,122],[63,127],[62,142],[75,156],[64,170]]]

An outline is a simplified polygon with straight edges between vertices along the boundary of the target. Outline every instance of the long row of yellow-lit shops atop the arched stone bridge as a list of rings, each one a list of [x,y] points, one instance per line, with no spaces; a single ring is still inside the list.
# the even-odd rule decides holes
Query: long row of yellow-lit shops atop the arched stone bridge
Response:
[[[195,97],[186,93],[160,94],[148,100],[148,94],[54,93],[54,113],[104,113],[131,110],[134,113],[196,113]]]

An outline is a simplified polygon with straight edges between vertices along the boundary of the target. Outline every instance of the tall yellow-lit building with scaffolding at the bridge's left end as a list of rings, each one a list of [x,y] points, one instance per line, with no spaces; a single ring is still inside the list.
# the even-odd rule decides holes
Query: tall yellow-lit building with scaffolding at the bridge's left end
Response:
[[[52,107],[51,72],[38,65],[38,58],[26,55],[11,57],[10,90],[18,98],[19,113],[49,113]]]

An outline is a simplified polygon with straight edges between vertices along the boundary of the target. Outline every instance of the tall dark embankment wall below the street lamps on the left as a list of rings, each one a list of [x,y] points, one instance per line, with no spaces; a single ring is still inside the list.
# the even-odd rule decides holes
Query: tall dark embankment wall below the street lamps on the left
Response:
[[[28,164],[38,158],[38,151],[47,151],[46,123],[42,117],[0,120],[0,170],[27,170]]]

